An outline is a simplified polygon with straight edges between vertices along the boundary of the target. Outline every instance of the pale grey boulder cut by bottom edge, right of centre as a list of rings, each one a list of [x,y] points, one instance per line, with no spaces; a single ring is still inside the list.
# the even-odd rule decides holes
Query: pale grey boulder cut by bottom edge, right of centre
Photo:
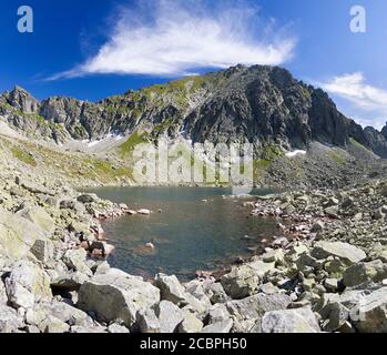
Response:
[[[320,333],[310,308],[267,312],[262,318],[263,333]]]

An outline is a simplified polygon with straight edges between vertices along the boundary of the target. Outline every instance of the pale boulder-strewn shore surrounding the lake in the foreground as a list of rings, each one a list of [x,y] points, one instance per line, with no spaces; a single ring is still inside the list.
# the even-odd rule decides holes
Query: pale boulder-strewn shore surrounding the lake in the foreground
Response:
[[[251,217],[278,219],[283,236],[223,276],[182,284],[101,258],[109,244],[100,221],[134,213],[128,206],[14,172],[2,178],[0,332],[387,332],[386,181],[246,203]]]

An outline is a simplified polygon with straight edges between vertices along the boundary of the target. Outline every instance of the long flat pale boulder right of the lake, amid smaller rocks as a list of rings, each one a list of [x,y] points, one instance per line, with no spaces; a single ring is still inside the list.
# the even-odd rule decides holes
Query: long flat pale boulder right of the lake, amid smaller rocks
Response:
[[[342,242],[317,242],[312,251],[312,256],[318,260],[337,256],[347,265],[364,261],[367,255],[360,248]]]

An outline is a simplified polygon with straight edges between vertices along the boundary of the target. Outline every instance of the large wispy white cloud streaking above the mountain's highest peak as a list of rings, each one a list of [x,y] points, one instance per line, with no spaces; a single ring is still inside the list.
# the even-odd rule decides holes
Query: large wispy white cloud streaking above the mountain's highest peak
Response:
[[[210,6],[211,3],[211,6]],[[51,79],[95,73],[173,77],[203,68],[282,64],[295,39],[246,1],[153,0],[120,8],[95,55]]]

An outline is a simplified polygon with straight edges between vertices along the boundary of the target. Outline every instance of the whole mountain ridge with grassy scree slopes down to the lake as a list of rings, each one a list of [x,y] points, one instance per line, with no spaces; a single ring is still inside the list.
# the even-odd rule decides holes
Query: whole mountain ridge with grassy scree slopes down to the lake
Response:
[[[237,65],[96,103],[39,102],[16,87],[0,95],[0,134],[37,156],[34,169],[61,171],[74,185],[132,184],[134,145],[160,136],[187,149],[254,143],[258,186],[338,187],[387,174],[376,155],[387,158],[387,125],[363,130],[327,93],[276,67]],[[307,154],[287,154],[294,150]]]

